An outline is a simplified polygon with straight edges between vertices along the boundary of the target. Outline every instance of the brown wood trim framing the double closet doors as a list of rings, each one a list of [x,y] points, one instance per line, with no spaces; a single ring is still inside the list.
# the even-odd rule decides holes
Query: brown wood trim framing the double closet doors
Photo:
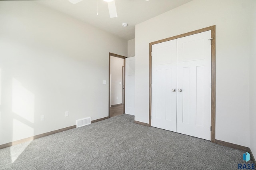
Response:
[[[188,32],[185,34],[180,34],[178,36],[170,37],[170,38],[165,38],[163,40],[158,40],[155,42],[149,43],[149,126],[151,127],[151,105],[152,105],[152,91],[151,91],[151,83],[152,83],[152,45],[157,44],[157,43],[162,43],[186,36],[191,36],[193,34],[198,34],[201,32],[206,32],[211,30],[211,38],[212,38],[212,91],[211,91],[211,142],[215,143],[215,108],[216,108],[216,40],[215,40],[215,35],[216,35],[216,26],[210,26],[206,28],[202,28],[200,30],[195,30],[192,32]]]

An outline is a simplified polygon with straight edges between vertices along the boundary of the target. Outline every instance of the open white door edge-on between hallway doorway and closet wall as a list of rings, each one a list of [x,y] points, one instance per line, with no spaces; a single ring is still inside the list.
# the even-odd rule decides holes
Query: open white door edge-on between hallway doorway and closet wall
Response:
[[[125,113],[135,111],[135,57],[125,59]]]

